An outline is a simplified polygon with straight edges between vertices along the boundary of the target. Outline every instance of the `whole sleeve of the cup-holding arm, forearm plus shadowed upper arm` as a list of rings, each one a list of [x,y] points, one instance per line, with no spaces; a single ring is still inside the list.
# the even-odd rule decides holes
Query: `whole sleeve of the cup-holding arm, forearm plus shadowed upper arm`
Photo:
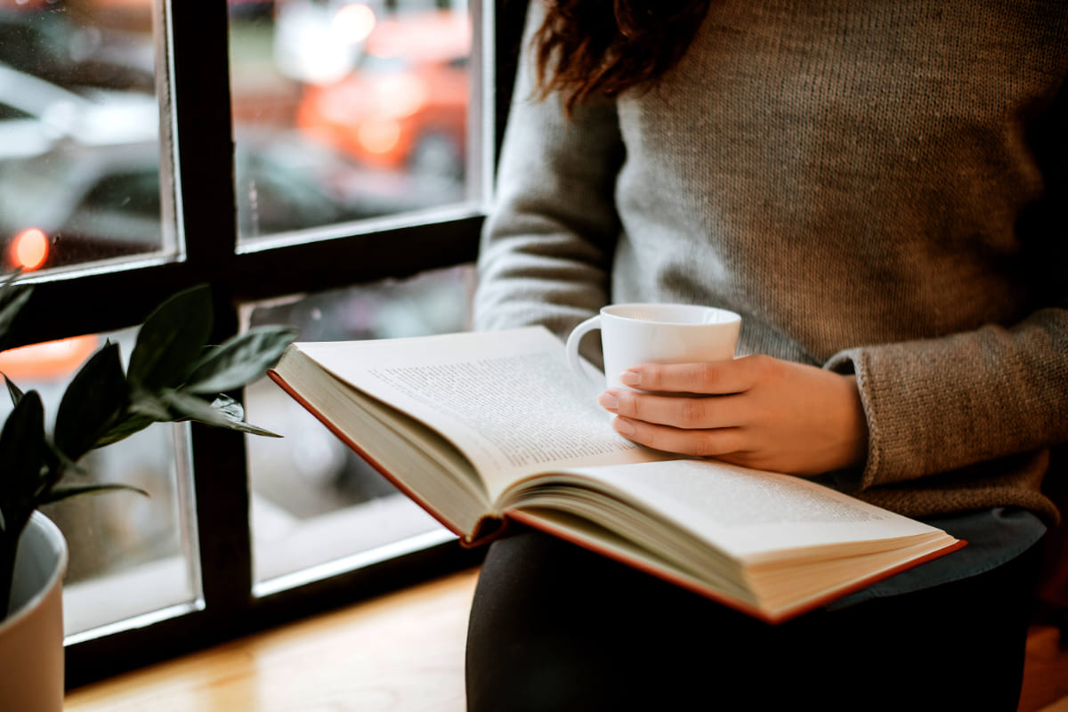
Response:
[[[1068,85],[1043,142],[1046,192],[1021,243],[1033,304],[1015,323],[844,350],[868,422],[861,489],[1037,453],[1068,452]]]

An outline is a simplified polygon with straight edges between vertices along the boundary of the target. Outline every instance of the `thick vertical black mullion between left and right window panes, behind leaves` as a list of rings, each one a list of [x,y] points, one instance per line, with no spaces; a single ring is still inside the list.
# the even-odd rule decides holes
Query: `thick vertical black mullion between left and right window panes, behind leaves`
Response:
[[[218,343],[237,331],[230,290],[237,224],[226,3],[171,2],[170,27],[180,232],[191,276],[211,284]],[[193,426],[192,468],[206,612],[226,620],[251,600],[244,439]]]

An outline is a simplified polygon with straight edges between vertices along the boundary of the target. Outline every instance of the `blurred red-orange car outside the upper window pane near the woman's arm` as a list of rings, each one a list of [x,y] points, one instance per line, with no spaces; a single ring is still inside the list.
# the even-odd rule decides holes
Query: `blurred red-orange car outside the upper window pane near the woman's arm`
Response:
[[[355,69],[307,84],[297,127],[370,165],[464,176],[471,25],[466,13],[405,13],[379,21]]]

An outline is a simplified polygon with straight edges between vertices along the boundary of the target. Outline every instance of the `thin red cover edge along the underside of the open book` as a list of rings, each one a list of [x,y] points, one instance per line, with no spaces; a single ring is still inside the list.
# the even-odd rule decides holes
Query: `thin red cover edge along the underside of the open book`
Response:
[[[398,480],[389,470],[387,470],[384,466],[382,466],[381,463],[379,463],[377,460],[371,457],[371,455],[368,455],[366,450],[364,450],[359,444],[357,444],[351,438],[349,438],[336,425],[334,425],[334,423],[331,422],[330,418],[326,417],[326,415],[319,412],[317,408],[312,406],[312,404],[310,404],[302,395],[297,393],[293,389],[293,386],[286,382],[286,380],[281,376],[281,374],[279,374],[273,368],[270,368],[267,370],[267,376],[272,381],[274,381],[283,391],[289,394],[289,396],[292,396],[294,400],[299,402],[308,412],[310,412],[312,415],[318,418],[334,436],[336,436],[342,442],[344,442],[348,447],[350,447],[357,455],[359,455],[371,466],[373,466],[376,471],[378,471],[379,474],[386,477],[386,479],[388,479],[394,487],[396,487],[405,496],[407,496],[409,500],[411,500],[417,505],[422,507],[428,515],[434,517],[434,519],[436,519],[446,529],[455,534],[459,538],[460,545],[466,549],[474,549],[489,543],[490,541],[502,535],[504,529],[508,527],[509,520],[514,520],[521,524],[525,524],[532,528],[545,532],[546,534],[550,534],[566,541],[570,541],[571,543],[582,547],[583,549],[592,551],[596,554],[600,554],[607,558],[619,561],[621,564],[629,566],[644,573],[648,573],[654,576],[657,576],[658,579],[662,579],[663,581],[679,586],[680,588],[685,588],[700,596],[704,596],[705,598],[711,599],[718,603],[722,603],[726,606],[740,611],[744,614],[753,616],[754,618],[757,618],[768,623],[780,623],[785,620],[789,620],[790,618],[795,618],[803,613],[807,613],[808,611],[818,608],[824,603],[830,603],[831,601],[834,601],[844,596],[848,596],[849,594],[858,591],[864,588],[865,586],[869,586],[876,583],[877,581],[889,579],[895,573],[899,573],[912,567],[920,566],[921,564],[924,564],[926,561],[930,561],[941,556],[945,556],[946,554],[955,552],[958,549],[961,549],[968,544],[965,540],[957,539],[953,543],[947,544],[946,547],[943,547],[942,549],[933,551],[929,554],[926,554],[925,556],[912,559],[910,561],[906,561],[899,566],[892,567],[885,571],[880,571],[879,573],[873,574],[870,576],[865,576],[864,579],[861,579],[850,584],[849,586],[836,589],[832,592],[829,592],[826,596],[821,596],[811,601],[807,601],[803,605],[790,608],[789,611],[786,611],[781,614],[772,615],[767,613],[766,611],[761,611],[748,603],[738,601],[737,599],[731,598],[728,596],[724,596],[719,591],[709,589],[705,586],[701,586],[700,584],[696,584],[688,579],[675,575],[670,571],[664,571],[655,566],[649,566],[644,561],[635,560],[614,550],[598,547],[596,543],[588,542],[584,539],[581,540],[577,539],[576,537],[571,536],[570,533],[560,529],[555,526],[552,526],[550,523],[547,523],[546,521],[539,519],[538,517],[529,515],[523,511],[509,511],[505,515],[503,519],[485,517],[478,521],[478,525],[475,527],[474,532],[471,533],[461,532],[454,522],[450,522],[444,517],[442,517],[441,513],[429,502],[424,500],[415,491],[411,490],[404,482]]]

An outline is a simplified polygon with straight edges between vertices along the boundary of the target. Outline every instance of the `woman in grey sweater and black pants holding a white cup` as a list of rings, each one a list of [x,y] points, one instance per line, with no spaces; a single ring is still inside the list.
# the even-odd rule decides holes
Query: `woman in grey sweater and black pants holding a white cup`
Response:
[[[661,395],[606,392],[614,427],[970,543],[768,626],[522,532],[470,708],[1015,710],[1068,442],[1068,5],[531,4],[476,326],[738,312],[739,358],[634,364]]]

